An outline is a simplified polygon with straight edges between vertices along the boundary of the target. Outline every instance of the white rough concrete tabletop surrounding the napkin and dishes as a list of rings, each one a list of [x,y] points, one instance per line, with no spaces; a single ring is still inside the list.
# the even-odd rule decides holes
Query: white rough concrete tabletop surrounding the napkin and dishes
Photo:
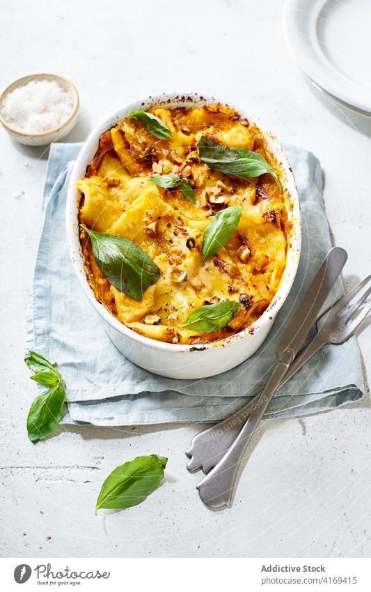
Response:
[[[283,142],[312,150],[326,176],[348,285],[371,271],[371,119],[321,98],[285,45],[281,0],[105,0],[1,3],[1,86],[34,72],[70,77],[86,137],[122,103],[200,90],[233,98]],[[230,510],[198,499],[184,449],[198,430],[68,429],[33,446],[25,421],[35,386],[23,363],[26,302],[40,229],[47,151],[0,130],[1,554],[3,556],[370,556],[370,416],[356,407],[266,423]],[[360,344],[370,368],[370,328]],[[94,506],[118,464],[169,458],[164,485],[120,513]]]

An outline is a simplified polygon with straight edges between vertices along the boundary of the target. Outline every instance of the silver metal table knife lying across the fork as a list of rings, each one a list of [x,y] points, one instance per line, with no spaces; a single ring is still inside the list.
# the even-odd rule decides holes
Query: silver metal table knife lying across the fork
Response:
[[[347,252],[340,247],[334,247],[327,253],[306,295],[277,344],[278,360],[246,423],[214,469],[198,483],[197,489],[200,499],[209,508],[223,508],[232,503],[239,465],[244,458],[248,443],[251,441],[274,393],[285,377],[292,360],[306,339],[310,327],[317,319],[346,260]]]

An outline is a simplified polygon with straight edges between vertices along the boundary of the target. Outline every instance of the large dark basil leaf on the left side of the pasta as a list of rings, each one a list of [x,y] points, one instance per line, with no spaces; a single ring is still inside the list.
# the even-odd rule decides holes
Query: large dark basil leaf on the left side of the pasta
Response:
[[[81,226],[90,236],[95,262],[107,280],[120,292],[140,301],[143,292],[161,275],[155,261],[127,238]]]

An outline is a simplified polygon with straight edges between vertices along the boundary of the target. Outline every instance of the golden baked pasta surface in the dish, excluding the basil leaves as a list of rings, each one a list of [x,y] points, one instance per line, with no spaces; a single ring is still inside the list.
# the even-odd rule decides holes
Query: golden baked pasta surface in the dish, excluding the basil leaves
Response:
[[[137,119],[124,119],[104,132],[86,178],[77,183],[79,219],[98,232],[134,241],[159,266],[161,277],[140,302],[126,296],[104,278],[81,229],[88,279],[97,300],[141,335],[173,343],[220,340],[250,326],[276,294],[290,236],[290,199],[269,174],[236,179],[198,160],[196,144],[205,135],[230,148],[257,151],[281,175],[260,130],[234,110],[215,104],[148,111],[164,122],[172,138],[157,139]],[[196,204],[176,188],[148,181],[171,173],[189,180]],[[202,261],[203,231],[212,215],[237,204],[242,207],[237,231],[216,256]],[[187,271],[187,278],[174,281],[171,266]],[[243,304],[226,328],[200,334],[180,327],[193,310],[224,300]],[[156,324],[148,324],[148,314],[159,317]]]

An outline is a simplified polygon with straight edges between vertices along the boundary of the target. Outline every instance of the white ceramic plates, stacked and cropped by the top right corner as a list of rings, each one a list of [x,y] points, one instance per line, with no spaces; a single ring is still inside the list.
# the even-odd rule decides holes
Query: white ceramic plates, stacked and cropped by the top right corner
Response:
[[[287,0],[287,43],[310,79],[371,114],[371,0]]]

